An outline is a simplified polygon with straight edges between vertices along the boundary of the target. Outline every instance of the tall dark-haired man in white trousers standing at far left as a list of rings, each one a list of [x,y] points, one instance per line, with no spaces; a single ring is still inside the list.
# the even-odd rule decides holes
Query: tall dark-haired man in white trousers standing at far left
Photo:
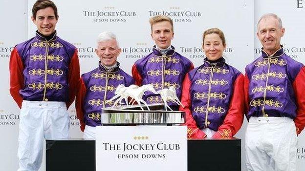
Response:
[[[15,46],[10,57],[10,93],[21,108],[19,169],[39,170],[44,139],[69,137],[67,108],[80,78],[77,49],[57,37],[57,7],[37,0],[32,8],[36,36]]]

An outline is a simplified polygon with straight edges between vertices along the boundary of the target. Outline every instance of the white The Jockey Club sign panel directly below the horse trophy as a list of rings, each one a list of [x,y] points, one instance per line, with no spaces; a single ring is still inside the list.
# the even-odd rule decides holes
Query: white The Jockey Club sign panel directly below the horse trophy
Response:
[[[186,126],[96,127],[96,171],[186,171]]]

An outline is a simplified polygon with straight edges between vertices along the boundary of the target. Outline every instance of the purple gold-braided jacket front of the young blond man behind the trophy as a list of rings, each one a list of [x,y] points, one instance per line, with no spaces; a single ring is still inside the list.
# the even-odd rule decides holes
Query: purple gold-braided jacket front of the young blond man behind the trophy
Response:
[[[189,72],[192,62],[172,50],[165,56],[153,47],[152,53],[147,57],[135,62],[139,74],[142,76],[142,85],[152,84],[156,91],[174,86],[177,97],[180,99],[182,91],[182,81],[187,72]],[[164,71],[163,71],[164,70]],[[160,95],[154,95],[152,92],[145,92],[143,99],[148,103],[162,103]],[[170,101],[170,107],[178,109],[178,105]],[[172,108],[172,109],[173,109]]]

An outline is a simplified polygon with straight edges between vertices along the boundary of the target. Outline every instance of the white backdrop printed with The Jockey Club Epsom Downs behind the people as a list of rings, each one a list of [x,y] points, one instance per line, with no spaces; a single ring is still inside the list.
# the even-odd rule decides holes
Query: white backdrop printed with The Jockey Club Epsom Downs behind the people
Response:
[[[9,95],[9,54],[11,47],[34,36],[35,25],[30,20],[35,0],[0,0],[0,171],[14,171],[18,168],[18,125],[19,108]],[[73,43],[79,50],[81,73],[97,67],[98,57],[94,54],[96,37],[102,31],[114,32],[123,50],[118,61],[121,68],[131,74],[135,60],[151,52],[148,19],[154,15],[166,14],[174,20],[173,45],[177,52],[190,58],[195,66],[202,64],[202,32],[211,27],[220,28],[226,37],[226,60],[241,72],[246,64],[259,56],[261,45],[256,38],[256,22],[267,12],[279,14],[286,33],[283,44],[287,53],[305,63],[304,46],[301,40],[304,30],[305,0],[54,0],[58,7],[58,36]],[[160,5],[162,4],[162,5]],[[303,7],[303,6],[304,7]],[[301,8],[302,6],[302,8]],[[110,16],[111,15],[111,16]],[[302,25],[303,24],[303,25]],[[303,47],[303,48],[302,48]],[[290,51],[288,52],[288,50]],[[301,52],[296,52],[296,51]],[[293,52],[292,52],[293,51]],[[253,53],[254,52],[254,53]],[[303,57],[303,58],[302,58]],[[71,137],[82,137],[75,108],[69,108]],[[247,121],[237,137],[242,139],[242,171],[244,168],[243,137]],[[299,137],[298,167],[305,168],[305,135]],[[221,157],[221,156],[219,156]],[[44,163],[40,171],[45,169]]]

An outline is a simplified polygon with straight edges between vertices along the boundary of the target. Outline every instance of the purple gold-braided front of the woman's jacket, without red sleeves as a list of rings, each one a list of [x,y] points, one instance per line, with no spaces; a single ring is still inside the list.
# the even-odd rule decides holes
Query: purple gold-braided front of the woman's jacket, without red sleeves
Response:
[[[207,127],[217,131],[227,114],[235,80],[241,73],[234,67],[226,64],[224,59],[213,66],[212,68],[211,63],[204,60],[203,65],[189,72],[191,81],[190,95],[191,110],[197,127],[199,129],[205,128],[206,114],[208,114],[207,121],[211,124],[206,124]],[[212,83],[210,80],[212,80]],[[210,96],[208,100],[209,93],[215,94]],[[215,110],[206,112],[206,109],[214,107]]]

